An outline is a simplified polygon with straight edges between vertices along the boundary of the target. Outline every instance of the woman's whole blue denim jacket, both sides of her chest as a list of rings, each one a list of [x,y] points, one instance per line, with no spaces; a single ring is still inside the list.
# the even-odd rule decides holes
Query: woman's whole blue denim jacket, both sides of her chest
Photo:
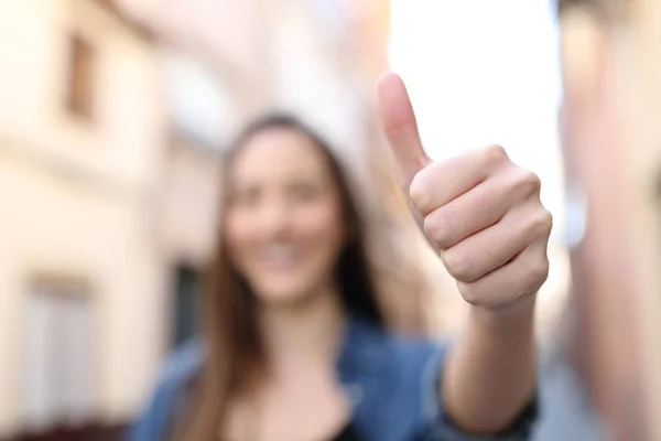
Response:
[[[199,372],[199,342],[178,349],[166,363],[147,412],[131,441],[161,441],[175,412],[182,385]],[[349,320],[337,361],[338,380],[353,400],[353,426],[366,441],[523,441],[531,439],[535,402],[496,435],[462,432],[440,400],[440,373],[447,343],[404,338],[360,320]]]

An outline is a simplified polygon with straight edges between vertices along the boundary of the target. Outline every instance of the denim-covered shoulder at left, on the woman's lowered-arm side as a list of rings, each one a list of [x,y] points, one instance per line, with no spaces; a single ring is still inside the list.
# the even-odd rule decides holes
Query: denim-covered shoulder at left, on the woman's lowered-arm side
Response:
[[[199,373],[203,362],[204,348],[198,340],[189,341],[170,354],[144,412],[130,430],[129,440],[163,439],[180,397]]]

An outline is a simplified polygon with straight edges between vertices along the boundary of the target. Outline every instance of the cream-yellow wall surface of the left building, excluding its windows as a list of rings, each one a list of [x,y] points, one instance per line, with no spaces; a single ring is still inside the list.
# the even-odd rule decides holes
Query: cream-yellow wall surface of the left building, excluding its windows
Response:
[[[164,120],[151,42],[93,1],[0,3],[0,438],[15,429],[21,324],[34,275],[89,280],[97,406],[142,404],[164,342],[165,275],[152,232]],[[98,56],[95,120],[64,107],[66,35]]]

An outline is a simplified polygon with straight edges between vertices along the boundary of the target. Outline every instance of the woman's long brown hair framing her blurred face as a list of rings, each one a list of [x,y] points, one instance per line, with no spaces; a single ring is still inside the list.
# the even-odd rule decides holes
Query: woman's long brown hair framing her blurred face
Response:
[[[237,152],[257,133],[284,128],[305,135],[323,153],[337,185],[347,228],[347,243],[338,256],[336,281],[345,311],[384,326],[377,300],[377,288],[366,246],[365,226],[345,168],[329,146],[313,130],[288,115],[270,115],[251,123],[238,137],[225,162],[223,179],[228,180]],[[227,189],[224,185],[224,189]],[[227,196],[224,197],[226,200]],[[225,205],[225,204],[224,204]],[[210,441],[218,439],[228,402],[245,394],[267,364],[256,314],[256,298],[228,261],[223,235],[208,267],[203,290],[203,338],[206,358],[196,378],[194,399],[180,426],[177,439]]]

